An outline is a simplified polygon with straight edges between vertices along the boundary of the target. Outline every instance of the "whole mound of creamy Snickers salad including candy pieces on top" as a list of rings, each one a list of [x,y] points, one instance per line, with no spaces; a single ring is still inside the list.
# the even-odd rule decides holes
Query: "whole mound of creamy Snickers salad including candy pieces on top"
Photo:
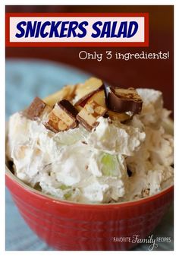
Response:
[[[145,198],[173,184],[169,115],[158,90],[90,78],[11,115],[8,160],[18,179],[62,200]]]

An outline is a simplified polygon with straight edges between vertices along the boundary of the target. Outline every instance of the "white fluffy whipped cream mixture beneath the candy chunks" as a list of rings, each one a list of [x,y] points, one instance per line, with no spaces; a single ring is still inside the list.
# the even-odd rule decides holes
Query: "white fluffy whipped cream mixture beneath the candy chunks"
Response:
[[[91,132],[79,126],[55,134],[38,120],[12,115],[7,153],[17,177],[57,198],[94,204],[143,198],[171,185],[173,136],[165,131],[170,112],[161,92],[137,91],[140,115],[126,125],[100,117]]]

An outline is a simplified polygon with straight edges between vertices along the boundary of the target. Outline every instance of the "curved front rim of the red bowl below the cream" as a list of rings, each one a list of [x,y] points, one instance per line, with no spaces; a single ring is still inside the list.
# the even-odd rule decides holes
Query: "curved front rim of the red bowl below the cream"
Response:
[[[12,182],[16,183],[18,186],[20,186],[21,188],[23,188],[25,191],[27,191],[30,194],[35,195],[38,198],[41,198],[43,200],[49,201],[51,203],[55,203],[55,204],[63,204],[66,206],[71,206],[71,207],[87,207],[87,208],[92,208],[94,210],[96,209],[102,209],[104,207],[109,208],[114,208],[114,207],[130,207],[130,206],[134,206],[134,205],[140,205],[140,204],[144,204],[144,203],[148,203],[149,201],[153,201],[157,198],[161,198],[163,195],[170,193],[171,191],[174,190],[174,185],[170,185],[168,186],[168,188],[163,189],[162,191],[159,191],[156,194],[153,194],[147,198],[140,198],[140,199],[136,199],[133,201],[124,201],[124,202],[118,202],[118,203],[113,203],[113,204],[94,204],[94,203],[81,203],[81,202],[75,202],[75,201],[67,201],[64,199],[59,199],[59,198],[55,198],[52,195],[49,194],[45,194],[42,193],[42,191],[38,191],[35,188],[30,187],[30,185],[27,185],[26,183],[22,182],[20,179],[17,178],[17,176],[15,176],[10,169],[8,169],[8,166],[5,165],[5,175],[6,177],[8,177],[9,179],[11,179]],[[7,182],[6,182],[7,185]],[[11,190],[10,190],[11,191]]]

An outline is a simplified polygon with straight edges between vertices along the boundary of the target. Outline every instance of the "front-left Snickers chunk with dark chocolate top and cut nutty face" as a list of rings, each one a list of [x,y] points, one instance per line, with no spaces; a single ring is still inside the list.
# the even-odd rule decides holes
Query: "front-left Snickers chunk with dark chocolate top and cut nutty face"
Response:
[[[55,104],[54,109],[49,114],[46,128],[54,132],[75,128],[77,126],[77,113],[77,109],[68,100],[61,100]]]

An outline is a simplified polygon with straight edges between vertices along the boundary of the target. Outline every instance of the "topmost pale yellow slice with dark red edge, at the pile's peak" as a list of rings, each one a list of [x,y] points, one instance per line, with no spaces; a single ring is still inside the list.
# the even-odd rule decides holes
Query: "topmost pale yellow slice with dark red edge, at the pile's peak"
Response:
[[[84,84],[79,84],[75,92],[77,98],[75,106],[84,106],[86,104],[86,100],[88,100],[89,97],[98,90],[101,90],[102,87],[104,87],[102,80],[96,77],[91,77],[86,80]]]

